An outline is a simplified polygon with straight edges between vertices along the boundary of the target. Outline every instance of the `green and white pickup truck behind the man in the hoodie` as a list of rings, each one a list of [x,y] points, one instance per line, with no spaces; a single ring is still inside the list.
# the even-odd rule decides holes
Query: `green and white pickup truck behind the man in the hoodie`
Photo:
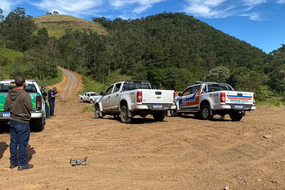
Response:
[[[39,85],[35,80],[25,80],[25,91],[32,98],[33,110],[31,111],[30,126],[35,126],[35,130],[42,131],[45,125],[45,102],[42,99]],[[8,91],[16,88],[14,79],[3,79],[0,81],[0,123],[8,123],[10,121],[10,113],[4,111],[4,103]]]

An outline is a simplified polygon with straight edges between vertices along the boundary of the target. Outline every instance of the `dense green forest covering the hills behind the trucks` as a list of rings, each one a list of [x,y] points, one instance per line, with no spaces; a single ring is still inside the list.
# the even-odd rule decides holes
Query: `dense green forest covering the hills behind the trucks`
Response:
[[[103,83],[120,69],[121,74],[161,89],[182,91],[202,80],[226,82],[260,99],[284,95],[284,44],[266,54],[185,13],[92,21],[106,27],[109,35],[66,29],[56,39],[46,28],[37,28],[24,8],[7,17],[0,9],[0,45],[24,53],[6,72],[11,77],[45,79],[59,65]],[[0,68],[6,64],[7,58],[0,56]]]

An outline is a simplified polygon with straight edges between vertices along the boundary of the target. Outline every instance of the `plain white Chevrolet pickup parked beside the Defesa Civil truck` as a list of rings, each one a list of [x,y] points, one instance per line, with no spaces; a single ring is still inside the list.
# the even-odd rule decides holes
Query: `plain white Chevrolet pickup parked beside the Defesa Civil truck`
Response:
[[[95,117],[120,115],[123,123],[130,123],[135,115],[144,118],[149,114],[162,121],[168,110],[176,108],[173,90],[157,90],[149,82],[118,82],[100,95],[94,104]]]

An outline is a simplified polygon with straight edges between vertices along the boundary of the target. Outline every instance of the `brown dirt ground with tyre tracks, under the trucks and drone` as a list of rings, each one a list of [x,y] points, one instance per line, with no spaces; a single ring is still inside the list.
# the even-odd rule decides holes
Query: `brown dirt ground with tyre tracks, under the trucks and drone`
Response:
[[[31,132],[34,168],[9,168],[10,136],[1,126],[0,189],[285,189],[284,108],[257,106],[240,122],[169,115],[123,124],[79,113],[88,103],[79,102],[75,76],[64,72],[56,117]],[[71,167],[70,158],[86,156],[86,166]]]

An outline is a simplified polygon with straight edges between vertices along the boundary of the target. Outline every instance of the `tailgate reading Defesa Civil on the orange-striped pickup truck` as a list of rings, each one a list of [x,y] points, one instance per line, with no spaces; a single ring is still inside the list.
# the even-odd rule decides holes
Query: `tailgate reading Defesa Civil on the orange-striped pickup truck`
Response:
[[[225,91],[226,104],[253,105],[253,92]]]

